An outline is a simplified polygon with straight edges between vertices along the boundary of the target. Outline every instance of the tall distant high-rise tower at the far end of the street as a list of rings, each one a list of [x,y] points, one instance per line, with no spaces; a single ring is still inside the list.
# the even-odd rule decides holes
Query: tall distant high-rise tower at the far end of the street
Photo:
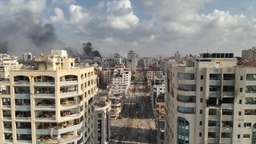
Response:
[[[130,50],[127,54],[127,68],[130,69],[132,72],[135,72],[138,65],[138,60],[138,55],[133,50]]]

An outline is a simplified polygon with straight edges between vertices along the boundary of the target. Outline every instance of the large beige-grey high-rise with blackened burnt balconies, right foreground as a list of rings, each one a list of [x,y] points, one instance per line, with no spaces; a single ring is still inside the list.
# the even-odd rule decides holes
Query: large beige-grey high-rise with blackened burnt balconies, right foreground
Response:
[[[256,142],[256,68],[232,53],[203,53],[170,64],[165,88],[165,143]]]

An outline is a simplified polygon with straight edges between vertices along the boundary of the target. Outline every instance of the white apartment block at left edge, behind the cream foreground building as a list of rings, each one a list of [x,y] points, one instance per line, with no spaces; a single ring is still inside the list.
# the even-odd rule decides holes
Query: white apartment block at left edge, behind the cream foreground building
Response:
[[[0,79],[9,78],[11,70],[19,70],[18,59],[7,54],[0,54]]]

